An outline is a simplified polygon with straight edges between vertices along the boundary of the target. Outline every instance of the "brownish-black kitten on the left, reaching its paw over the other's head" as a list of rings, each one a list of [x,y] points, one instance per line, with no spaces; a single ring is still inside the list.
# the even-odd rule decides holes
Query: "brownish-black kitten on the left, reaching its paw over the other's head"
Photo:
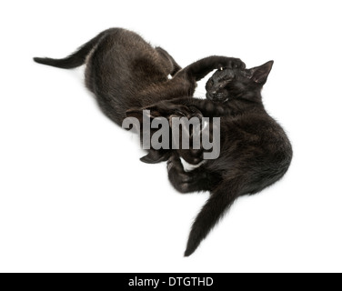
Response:
[[[220,67],[245,67],[239,59],[210,56],[181,70],[161,47],[152,47],[133,32],[112,28],[97,35],[64,59],[37,58],[35,62],[60,68],[86,64],[85,84],[102,111],[122,125],[126,111],[181,96],[192,96],[196,81]],[[174,76],[172,79],[168,75]],[[167,160],[169,151],[150,150],[142,160]]]

